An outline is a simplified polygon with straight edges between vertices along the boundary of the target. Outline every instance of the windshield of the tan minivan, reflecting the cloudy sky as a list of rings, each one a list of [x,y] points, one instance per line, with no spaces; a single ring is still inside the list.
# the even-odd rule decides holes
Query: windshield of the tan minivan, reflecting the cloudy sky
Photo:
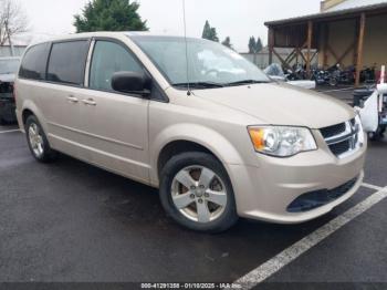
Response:
[[[270,82],[254,64],[217,42],[184,38],[130,37],[172,85],[220,87]],[[187,80],[188,72],[188,80]]]

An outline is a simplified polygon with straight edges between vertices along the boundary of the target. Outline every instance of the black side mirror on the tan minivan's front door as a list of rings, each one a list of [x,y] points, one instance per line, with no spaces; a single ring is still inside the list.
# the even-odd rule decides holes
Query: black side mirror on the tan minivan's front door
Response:
[[[112,87],[114,91],[139,94],[148,96],[150,94],[151,80],[145,73],[137,72],[116,72],[112,77]]]

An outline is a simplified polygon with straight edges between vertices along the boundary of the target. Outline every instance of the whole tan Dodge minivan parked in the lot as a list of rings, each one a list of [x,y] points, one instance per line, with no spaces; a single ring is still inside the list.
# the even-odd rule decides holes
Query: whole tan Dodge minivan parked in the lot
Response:
[[[39,162],[61,152],[157,187],[167,214],[195,230],[306,221],[364,176],[354,110],[206,40],[96,32],[34,44],[15,97]]]

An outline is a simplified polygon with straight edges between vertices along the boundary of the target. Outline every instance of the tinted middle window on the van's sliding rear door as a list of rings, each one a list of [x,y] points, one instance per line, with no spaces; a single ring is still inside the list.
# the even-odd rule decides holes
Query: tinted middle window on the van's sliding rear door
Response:
[[[69,41],[52,45],[48,81],[83,85],[88,41]]]

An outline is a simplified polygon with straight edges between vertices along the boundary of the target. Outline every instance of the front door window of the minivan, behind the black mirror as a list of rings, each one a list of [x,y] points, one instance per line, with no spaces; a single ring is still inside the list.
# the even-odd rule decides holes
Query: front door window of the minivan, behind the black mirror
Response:
[[[90,69],[90,89],[114,92],[112,76],[123,71],[144,72],[124,46],[111,41],[96,41]]]

